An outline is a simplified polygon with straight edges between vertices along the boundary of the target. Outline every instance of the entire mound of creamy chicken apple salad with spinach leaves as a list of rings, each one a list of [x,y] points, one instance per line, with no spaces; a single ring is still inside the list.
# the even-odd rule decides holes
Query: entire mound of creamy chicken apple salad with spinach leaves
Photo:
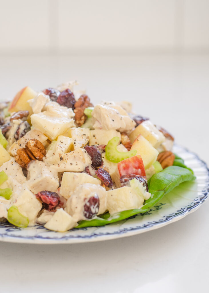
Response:
[[[0,104],[0,221],[64,232],[147,212],[193,171],[129,102],[93,105],[76,82]]]

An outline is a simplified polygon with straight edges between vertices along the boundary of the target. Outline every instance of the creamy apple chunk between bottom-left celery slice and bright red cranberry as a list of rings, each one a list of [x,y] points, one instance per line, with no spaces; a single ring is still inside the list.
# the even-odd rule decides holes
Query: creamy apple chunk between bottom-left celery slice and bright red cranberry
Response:
[[[42,204],[35,197],[28,188],[23,188],[20,194],[18,195],[17,200],[13,203],[23,216],[28,217],[29,225],[33,225],[35,223],[35,219],[37,217],[38,212],[42,208]]]

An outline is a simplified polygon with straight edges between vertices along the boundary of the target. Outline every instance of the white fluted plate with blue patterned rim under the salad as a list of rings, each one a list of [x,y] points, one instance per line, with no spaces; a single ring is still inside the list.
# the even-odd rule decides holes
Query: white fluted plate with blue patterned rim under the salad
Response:
[[[209,169],[196,154],[183,147],[175,145],[174,153],[193,169],[197,179],[194,182],[181,183],[150,211],[106,226],[72,229],[64,233],[49,231],[40,225],[18,228],[0,223],[0,241],[33,244],[101,241],[140,234],[182,219],[207,200]]]

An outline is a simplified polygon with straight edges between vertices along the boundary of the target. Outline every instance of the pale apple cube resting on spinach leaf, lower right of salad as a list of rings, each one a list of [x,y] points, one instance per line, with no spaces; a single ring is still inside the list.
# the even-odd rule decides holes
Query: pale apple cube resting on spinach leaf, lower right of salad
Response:
[[[107,191],[107,209],[111,215],[128,209],[139,209],[143,202],[144,198],[129,186]]]

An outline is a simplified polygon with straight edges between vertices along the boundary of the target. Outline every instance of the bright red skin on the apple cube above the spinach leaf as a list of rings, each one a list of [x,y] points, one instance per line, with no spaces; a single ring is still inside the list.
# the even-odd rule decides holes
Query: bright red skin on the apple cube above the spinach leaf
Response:
[[[133,156],[118,163],[120,177],[128,174],[135,174],[145,177],[144,163],[140,155]]]

